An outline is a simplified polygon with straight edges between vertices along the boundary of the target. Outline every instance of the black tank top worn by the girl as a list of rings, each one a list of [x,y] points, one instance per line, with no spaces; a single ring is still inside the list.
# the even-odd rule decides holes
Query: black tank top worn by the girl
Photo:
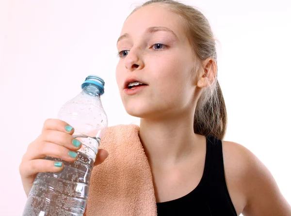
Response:
[[[206,136],[206,157],[202,178],[189,194],[157,203],[158,216],[237,216],[224,173],[222,141]]]

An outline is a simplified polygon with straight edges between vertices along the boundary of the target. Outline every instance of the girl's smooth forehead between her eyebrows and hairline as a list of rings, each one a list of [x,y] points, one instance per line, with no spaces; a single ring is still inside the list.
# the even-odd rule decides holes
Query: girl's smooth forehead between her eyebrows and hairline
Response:
[[[179,39],[185,38],[182,19],[179,15],[158,4],[144,6],[129,15],[123,24],[121,34],[139,35],[149,27],[166,27],[174,31]]]

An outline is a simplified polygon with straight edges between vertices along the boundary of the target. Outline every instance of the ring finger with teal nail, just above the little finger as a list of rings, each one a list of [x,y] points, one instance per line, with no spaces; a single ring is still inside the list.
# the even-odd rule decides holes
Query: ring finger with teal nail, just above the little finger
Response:
[[[33,146],[32,146],[33,147]],[[46,156],[61,158],[68,162],[73,162],[77,160],[78,153],[71,151],[64,146],[51,143],[43,142],[41,144],[35,145],[34,149],[29,149],[23,156],[23,161],[35,160],[35,159],[44,159]]]

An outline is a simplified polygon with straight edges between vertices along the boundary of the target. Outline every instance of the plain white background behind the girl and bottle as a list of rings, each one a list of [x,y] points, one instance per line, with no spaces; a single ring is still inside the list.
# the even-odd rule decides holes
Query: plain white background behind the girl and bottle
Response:
[[[291,1],[185,0],[219,39],[218,80],[228,114],[225,140],[271,170],[291,203]],[[143,1],[0,0],[0,215],[22,214],[18,166],[47,118],[77,95],[84,78],[105,80],[109,125],[132,123],[115,82],[116,40]]]

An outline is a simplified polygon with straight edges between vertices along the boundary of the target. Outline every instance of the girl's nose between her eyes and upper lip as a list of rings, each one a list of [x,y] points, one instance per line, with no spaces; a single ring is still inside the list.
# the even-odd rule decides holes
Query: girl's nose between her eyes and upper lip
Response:
[[[132,47],[125,58],[125,67],[129,71],[135,71],[144,68],[144,66],[141,49],[139,47]]]

